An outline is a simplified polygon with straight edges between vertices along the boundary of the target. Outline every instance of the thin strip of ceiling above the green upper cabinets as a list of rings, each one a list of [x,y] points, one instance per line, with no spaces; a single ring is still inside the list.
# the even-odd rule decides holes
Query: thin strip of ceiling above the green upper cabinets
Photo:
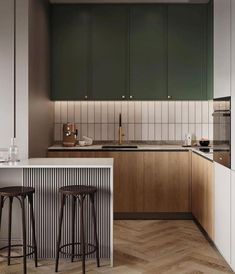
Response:
[[[51,3],[208,3],[209,0],[50,0]]]

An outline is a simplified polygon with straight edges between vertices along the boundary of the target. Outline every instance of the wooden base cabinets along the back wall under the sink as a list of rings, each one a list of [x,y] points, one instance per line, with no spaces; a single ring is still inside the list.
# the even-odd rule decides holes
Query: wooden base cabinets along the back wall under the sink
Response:
[[[114,158],[114,212],[191,212],[190,155],[179,151],[49,151],[48,157]]]

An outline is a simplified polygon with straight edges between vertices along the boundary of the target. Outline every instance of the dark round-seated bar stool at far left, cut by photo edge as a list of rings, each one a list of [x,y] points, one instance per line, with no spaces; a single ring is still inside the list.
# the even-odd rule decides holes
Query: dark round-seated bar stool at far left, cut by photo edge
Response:
[[[12,187],[0,188],[0,229],[1,229],[2,209],[6,199],[9,199],[8,245],[0,248],[0,250],[8,249],[8,255],[6,256],[6,255],[0,254],[0,257],[7,258],[8,265],[10,265],[11,259],[23,258],[24,274],[27,273],[27,267],[26,267],[27,256],[34,254],[35,267],[37,267],[37,244],[36,244],[36,236],[35,236],[35,218],[33,213],[33,194],[34,193],[35,193],[35,189],[32,187],[12,186]],[[30,204],[33,246],[26,244],[26,217],[25,217],[26,197],[28,197],[28,202]],[[20,206],[22,210],[23,244],[17,244],[17,245],[11,244],[12,203],[14,198],[16,198],[20,202]],[[12,247],[23,247],[23,255],[11,256]],[[27,253],[27,248],[30,249],[29,253]]]

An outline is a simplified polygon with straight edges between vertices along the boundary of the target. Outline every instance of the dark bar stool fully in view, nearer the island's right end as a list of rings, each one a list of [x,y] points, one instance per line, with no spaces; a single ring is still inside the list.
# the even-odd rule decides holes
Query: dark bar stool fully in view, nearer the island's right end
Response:
[[[82,272],[85,273],[85,257],[86,255],[92,254],[96,252],[96,260],[97,260],[97,266],[100,266],[100,259],[99,259],[99,242],[98,242],[98,236],[97,236],[97,225],[96,225],[96,213],[95,213],[95,204],[94,204],[94,197],[95,193],[97,192],[96,187],[92,186],[78,186],[78,185],[71,185],[71,186],[65,186],[61,187],[59,189],[59,192],[61,194],[61,209],[60,209],[60,217],[59,217],[59,232],[58,232],[58,238],[57,238],[57,251],[56,251],[56,266],[55,271],[58,272],[58,264],[59,264],[59,253],[69,255],[71,256],[71,262],[73,262],[74,257],[82,257]],[[85,243],[85,232],[84,232],[84,200],[86,196],[89,196],[91,206],[92,206],[92,219],[94,224],[94,236],[95,236],[95,245],[90,243]],[[63,215],[64,215],[64,205],[65,200],[67,197],[72,196],[72,242],[69,244],[65,244],[60,246],[61,243],[61,230],[62,230],[62,222],[63,222]],[[74,231],[75,231],[75,208],[76,208],[76,201],[79,201],[80,205],[80,242],[75,243],[74,242]],[[81,247],[81,253],[74,254],[74,247],[75,245],[79,245]],[[63,252],[62,249],[64,247],[72,247],[71,253]],[[86,251],[87,247],[92,247],[93,250]]]

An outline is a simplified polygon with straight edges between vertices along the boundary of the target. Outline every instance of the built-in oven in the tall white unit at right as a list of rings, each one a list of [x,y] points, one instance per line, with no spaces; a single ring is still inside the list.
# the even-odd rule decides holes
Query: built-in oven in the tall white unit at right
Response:
[[[213,160],[231,167],[231,97],[214,99]]]

